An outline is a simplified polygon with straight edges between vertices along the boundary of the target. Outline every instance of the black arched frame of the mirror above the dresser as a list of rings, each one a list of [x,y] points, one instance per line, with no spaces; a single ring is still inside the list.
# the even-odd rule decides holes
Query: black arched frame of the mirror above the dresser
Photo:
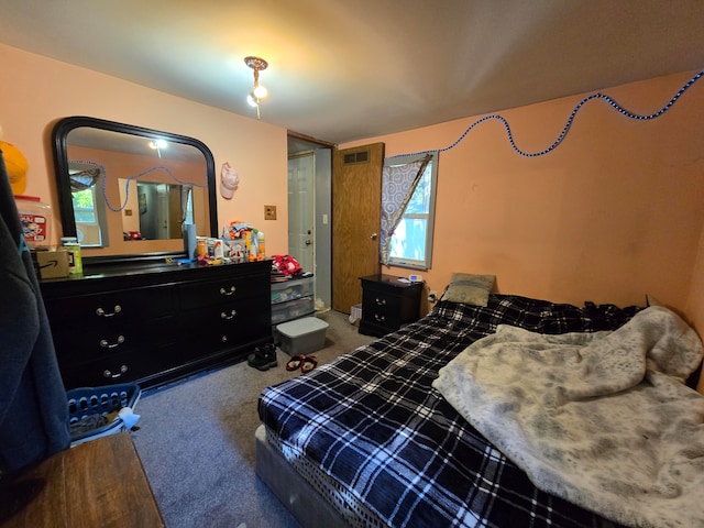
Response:
[[[118,123],[98,118],[88,118],[76,116],[61,119],[52,132],[52,147],[54,151],[54,168],[56,170],[56,186],[58,191],[58,208],[62,220],[64,237],[76,237],[76,221],[74,216],[74,204],[72,200],[70,182],[68,179],[68,155],[66,150],[66,139],[68,133],[77,128],[88,127],[94,129],[109,130],[112,132],[121,132],[124,134],[138,135],[147,139],[164,139],[174,143],[182,143],[198,148],[206,158],[206,174],[208,178],[208,206],[210,221],[210,237],[218,237],[218,208],[217,208],[217,182],[216,182],[216,163],[210,148],[195,138],[186,135],[173,134],[170,132],[161,132],[153,129]],[[186,251],[183,252],[154,252],[139,253],[130,255],[106,255],[84,257],[84,263],[90,264],[127,264],[136,263],[139,261],[163,261],[167,256],[185,257]]]

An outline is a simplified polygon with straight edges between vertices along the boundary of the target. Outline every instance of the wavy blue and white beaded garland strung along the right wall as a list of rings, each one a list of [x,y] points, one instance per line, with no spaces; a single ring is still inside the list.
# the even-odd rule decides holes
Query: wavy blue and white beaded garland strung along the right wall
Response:
[[[650,113],[650,114],[644,114],[644,116],[638,114],[638,113],[629,112],[624,107],[622,107],[618,102],[616,102],[613,98],[610,98],[609,96],[607,96],[605,94],[601,94],[601,92],[592,94],[591,96],[587,96],[584,99],[582,99],[578,103],[578,106],[574,107],[574,110],[572,110],[572,113],[570,114],[570,118],[568,119],[568,122],[565,123],[564,128],[562,129],[562,132],[560,133],[558,139],[554,140],[550,146],[548,146],[547,148],[543,148],[542,151],[539,151],[539,152],[525,152],[525,151],[521,151],[520,148],[518,148],[518,145],[516,145],[516,142],[514,141],[514,134],[510,131],[510,127],[509,127],[508,121],[506,120],[506,118],[504,118],[503,116],[499,116],[499,114],[492,114],[492,116],[486,116],[484,118],[481,118],[477,121],[475,121],[474,123],[472,123],[470,127],[468,127],[468,129],[462,133],[462,135],[460,135],[460,138],[458,138],[458,140],[454,143],[452,143],[450,146],[446,146],[444,148],[438,148],[438,150],[431,150],[431,151],[421,151],[421,152],[414,152],[414,153],[410,153],[410,154],[398,154],[398,155],[399,156],[417,156],[417,155],[428,154],[428,153],[448,152],[448,151],[454,148],[455,146],[458,146],[464,140],[464,138],[466,138],[466,135],[472,130],[474,130],[476,127],[479,127],[480,124],[482,124],[482,123],[484,123],[486,121],[490,121],[490,120],[497,120],[497,121],[501,121],[504,124],[504,129],[506,129],[506,135],[508,136],[508,142],[510,143],[510,146],[514,148],[514,151],[516,151],[518,154],[520,154],[521,156],[525,156],[525,157],[544,156],[549,152],[552,152],[553,150],[556,150],[560,145],[560,143],[562,143],[564,138],[568,135],[568,132],[572,128],[572,123],[574,122],[574,118],[576,117],[578,112],[582,109],[582,107],[584,107],[584,105],[586,105],[592,99],[601,99],[603,101],[606,101],[608,105],[610,105],[612,108],[618,110],[618,112],[620,114],[623,114],[623,116],[625,116],[627,118],[630,118],[630,119],[637,119],[637,120],[656,119],[656,118],[659,118],[660,116],[662,116],[668,110],[670,110],[670,108],[672,108],[672,106],[680,99],[680,97],[682,97],[682,95],[689,88],[691,88],[692,85],[694,85],[694,82],[700,80],[703,76],[704,76],[704,69],[701,70],[698,74],[696,74],[694,77],[692,77],[690,80],[688,80],[682,86],[682,88],[680,88],[678,90],[678,92],[672,97],[672,99],[670,99],[667,102],[667,105],[664,105],[660,110],[658,110],[657,112],[653,112],[653,113]]]

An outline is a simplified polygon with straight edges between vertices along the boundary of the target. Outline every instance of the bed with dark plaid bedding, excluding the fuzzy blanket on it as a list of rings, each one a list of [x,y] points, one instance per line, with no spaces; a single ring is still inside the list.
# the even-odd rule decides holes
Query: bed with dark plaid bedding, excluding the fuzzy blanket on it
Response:
[[[520,457],[496,447],[510,446],[487,440],[466,409],[458,410],[433,386],[439,373],[450,372],[471,345],[494,339],[497,329],[610,336],[644,311],[502,294],[490,295],[486,306],[440,300],[419,321],[264,389],[256,472],[302,526],[649,526],[610,510],[607,518],[562,497],[569,493],[538,488],[516,463]],[[684,367],[690,372],[692,361]],[[678,384],[698,419],[690,458],[704,473],[704,397]],[[701,479],[693,479],[700,486]],[[701,507],[694,503],[691,509]]]

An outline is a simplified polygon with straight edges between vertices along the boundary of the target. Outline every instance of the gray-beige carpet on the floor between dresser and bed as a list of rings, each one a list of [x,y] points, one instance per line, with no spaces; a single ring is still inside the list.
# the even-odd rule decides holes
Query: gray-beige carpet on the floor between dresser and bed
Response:
[[[346,314],[318,317],[329,323],[326,348],[312,354],[319,364],[373,340]],[[277,350],[278,366],[266,372],[244,362],[143,395],[132,437],[169,528],[298,526],[254,473],[257,397],[301,375],[286,371],[287,360]]]

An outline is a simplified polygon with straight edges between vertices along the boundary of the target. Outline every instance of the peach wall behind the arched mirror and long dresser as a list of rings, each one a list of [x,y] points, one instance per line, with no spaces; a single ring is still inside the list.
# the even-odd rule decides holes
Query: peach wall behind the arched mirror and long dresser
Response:
[[[288,250],[286,129],[152,90],[0,44],[0,127],[3,141],[29,161],[26,195],[53,206],[58,227],[51,131],[68,116],[88,116],[196,138],[212,151],[218,180],[224,162],[238,170],[231,200],[218,193],[220,228],[246,221],[266,233],[271,254]],[[242,97],[232,94],[233,98]],[[280,220],[264,221],[264,205],[276,205]],[[58,240],[58,229],[53,230]]]

